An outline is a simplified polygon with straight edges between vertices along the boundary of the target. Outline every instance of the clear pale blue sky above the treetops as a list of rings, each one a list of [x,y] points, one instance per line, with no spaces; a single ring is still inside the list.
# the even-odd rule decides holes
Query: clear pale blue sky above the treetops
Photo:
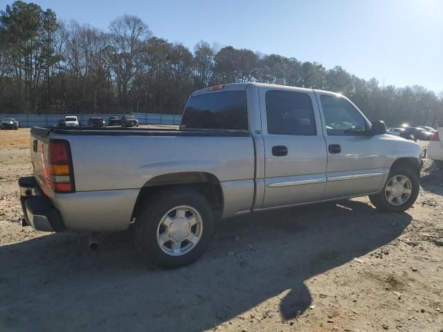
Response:
[[[137,15],[156,37],[320,62],[380,84],[443,92],[443,0],[34,0],[107,30]],[[0,8],[12,0],[0,0]]]

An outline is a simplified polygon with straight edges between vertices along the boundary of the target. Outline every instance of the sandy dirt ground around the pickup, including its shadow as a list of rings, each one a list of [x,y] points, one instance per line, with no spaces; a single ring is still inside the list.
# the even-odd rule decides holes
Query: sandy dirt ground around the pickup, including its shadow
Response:
[[[359,198],[229,219],[197,263],[161,270],[127,232],[90,251],[87,234],[21,227],[28,135],[0,131],[0,331],[443,331],[430,160],[406,213]]]

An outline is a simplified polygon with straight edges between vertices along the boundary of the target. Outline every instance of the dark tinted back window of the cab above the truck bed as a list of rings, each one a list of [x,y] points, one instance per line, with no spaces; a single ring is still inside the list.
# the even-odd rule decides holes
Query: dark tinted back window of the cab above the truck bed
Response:
[[[182,130],[248,130],[246,91],[226,91],[196,95],[186,104]]]

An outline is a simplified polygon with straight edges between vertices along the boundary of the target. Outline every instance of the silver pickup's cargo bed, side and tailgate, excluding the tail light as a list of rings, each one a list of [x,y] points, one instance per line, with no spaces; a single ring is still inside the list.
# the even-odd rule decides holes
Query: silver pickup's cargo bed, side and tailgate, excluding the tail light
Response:
[[[72,230],[127,228],[141,188],[164,176],[214,176],[224,216],[253,206],[255,150],[247,132],[33,127],[35,178],[44,175],[42,151],[50,140],[66,140],[71,148],[75,192],[48,197]]]

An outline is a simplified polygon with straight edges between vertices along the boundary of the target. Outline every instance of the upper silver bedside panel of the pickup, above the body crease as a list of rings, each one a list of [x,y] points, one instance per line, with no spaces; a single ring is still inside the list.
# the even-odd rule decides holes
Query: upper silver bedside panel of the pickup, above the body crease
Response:
[[[69,141],[77,192],[141,188],[155,176],[208,172],[253,179],[251,137],[51,136]]]

